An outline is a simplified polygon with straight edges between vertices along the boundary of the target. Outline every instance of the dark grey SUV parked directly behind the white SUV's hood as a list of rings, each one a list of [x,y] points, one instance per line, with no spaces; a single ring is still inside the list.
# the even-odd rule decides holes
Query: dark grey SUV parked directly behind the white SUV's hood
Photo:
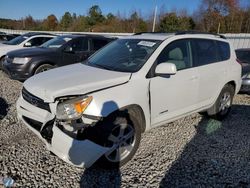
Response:
[[[115,38],[99,35],[63,35],[37,48],[7,53],[3,70],[16,80],[26,80],[49,69],[86,60]]]

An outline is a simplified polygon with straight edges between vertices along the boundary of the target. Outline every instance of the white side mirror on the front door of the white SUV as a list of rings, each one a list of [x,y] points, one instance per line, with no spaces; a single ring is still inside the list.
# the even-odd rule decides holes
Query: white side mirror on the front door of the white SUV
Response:
[[[168,63],[168,62],[164,62],[164,63],[157,65],[157,67],[155,69],[155,74],[158,76],[174,75],[174,74],[176,74],[176,72],[177,72],[177,70],[176,70],[175,64]]]

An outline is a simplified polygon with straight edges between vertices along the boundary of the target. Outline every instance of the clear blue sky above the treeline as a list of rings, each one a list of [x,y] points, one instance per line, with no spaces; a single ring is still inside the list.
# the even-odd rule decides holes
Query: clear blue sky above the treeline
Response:
[[[108,13],[127,17],[136,10],[142,16],[153,12],[155,5],[158,12],[186,9],[189,14],[198,8],[201,0],[0,0],[0,18],[21,19],[31,15],[34,19],[44,19],[54,14],[60,19],[68,11],[77,15],[86,15],[93,5],[99,5],[104,15]],[[249,5],[249,0],[240,0],[242,7]]]

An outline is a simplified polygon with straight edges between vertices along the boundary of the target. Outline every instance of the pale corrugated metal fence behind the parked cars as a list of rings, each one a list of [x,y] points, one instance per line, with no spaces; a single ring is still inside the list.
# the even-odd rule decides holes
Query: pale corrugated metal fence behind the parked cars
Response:
[[[9,34],[24,34],[27,32],[35,32],[35,31],[0,29],[0,32],[5,32],[5,33],[9,33]],[[109,36],[126,36],[126,35],[133,34],[133,33],[63,32],[63,31],[42,31],[42,32],[53,33],[53,34],[57,34],[57,35],[65,35],[65,34],[92,34],[92,35],[96,35],[96,34],[99,34],[99,35],[109,35]],[[239,34],[226,33],[224,35],[233,44],[235,49],[250,48],[250,33],[239,33]]]

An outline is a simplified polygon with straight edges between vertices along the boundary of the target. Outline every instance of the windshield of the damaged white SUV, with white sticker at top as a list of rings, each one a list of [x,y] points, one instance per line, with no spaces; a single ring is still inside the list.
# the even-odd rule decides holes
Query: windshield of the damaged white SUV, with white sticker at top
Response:
[[[137,72],[160,42],[146,39],[118,39],[98,51],[86,64],[120,72]]]

